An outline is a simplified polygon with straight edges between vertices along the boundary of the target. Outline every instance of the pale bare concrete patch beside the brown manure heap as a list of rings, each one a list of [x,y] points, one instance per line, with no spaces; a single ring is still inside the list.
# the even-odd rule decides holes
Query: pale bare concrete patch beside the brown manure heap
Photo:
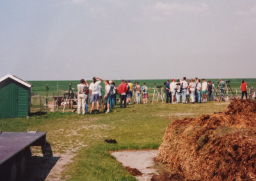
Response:
[[[122,151],[111,153],[116,160],[127,169],[138,180],[150,180],[152,175],[157,174],[153,168],[157,150]],[[140,175],[141,173],[141,175]]]

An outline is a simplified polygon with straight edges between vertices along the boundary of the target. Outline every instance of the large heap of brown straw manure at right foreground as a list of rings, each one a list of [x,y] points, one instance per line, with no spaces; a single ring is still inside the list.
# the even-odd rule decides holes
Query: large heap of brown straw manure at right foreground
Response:
[[[157,161],[178,180],[256,180],[255,127],[256,102],[234,99],[222,113],[170,123]]]

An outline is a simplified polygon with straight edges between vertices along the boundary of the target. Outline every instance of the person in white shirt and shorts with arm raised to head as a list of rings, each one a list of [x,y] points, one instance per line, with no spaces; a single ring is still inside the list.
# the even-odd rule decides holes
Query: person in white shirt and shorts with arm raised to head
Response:
[[[99,81],[97,81],[97,79],[99,79]],[[92,101],[92,113],[94,114],[94,104],[96,102],[96,106],[97,106],[97,113],[99,114],[99,84],[101,83],[102,79],[100,79],[99,77],[93,77],[92,78],[92,83],[89,86],[89,90],[90,90],[90,95],[91,95],[91,101]]]

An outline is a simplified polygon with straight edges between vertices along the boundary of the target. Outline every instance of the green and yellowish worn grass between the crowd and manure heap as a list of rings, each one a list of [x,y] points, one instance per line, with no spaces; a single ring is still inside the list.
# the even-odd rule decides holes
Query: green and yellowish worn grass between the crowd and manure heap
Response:
[[[162,143],[166,127],[172,120],[222,111],[227,104],[139,104],[127,109],[115,107],[109,114],[77,115],[47,113],[29,118],[0,120],[0,130],[46,131],[52,151],[76,153],[73,162],[61,173],[68,180],[136,180],[109,154],[113,150],[156,149]],[[116,139],[108,144],[104,139]],[[39,152],[39,150],[33,150]]]

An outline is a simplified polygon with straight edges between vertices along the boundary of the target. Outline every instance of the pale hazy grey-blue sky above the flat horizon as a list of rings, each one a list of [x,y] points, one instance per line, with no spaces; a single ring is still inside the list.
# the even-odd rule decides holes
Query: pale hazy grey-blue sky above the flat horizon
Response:
[[[255,78],[256,1],[1,0],[0,77]]]

